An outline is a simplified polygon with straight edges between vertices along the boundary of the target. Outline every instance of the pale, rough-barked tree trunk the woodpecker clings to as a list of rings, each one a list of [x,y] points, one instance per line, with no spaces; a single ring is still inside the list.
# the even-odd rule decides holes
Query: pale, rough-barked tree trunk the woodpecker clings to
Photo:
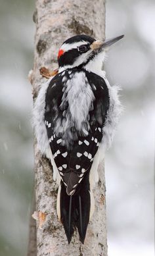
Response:
[[[46,81],[39,74],[43,66],[57,67],[57,53],[62,42],[76,34],[87,34],[103,39],[105,32],[104,0],[37,0],[33,14],[36,24],[34,66],[30,75],[33,98],[39,86]],[[52,167],[45,157],[35,151],[35,201],[36,211],[45,213],[42,226],[37,221],[37,256],[93,256],[107,255],[106,204],[104,163],[99,166],[99,184],[96,185],[95,212],[87,228],[85,244],[74,233],[68,245],[64,228],[56,215],[57,186],[53,181]],[[34,254],[35,255],[35,254]]]

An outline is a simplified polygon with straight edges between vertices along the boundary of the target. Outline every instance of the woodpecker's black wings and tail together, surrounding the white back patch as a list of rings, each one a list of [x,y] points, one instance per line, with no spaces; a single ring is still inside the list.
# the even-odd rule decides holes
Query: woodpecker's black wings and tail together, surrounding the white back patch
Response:
[[[64,80],[72,79],[70,77],[71,72],[72,75],[74,72],[85,72],[95,96],[87,116],[89,132],[85,136],[76,129],[76,125],[69,127],[66,134],[55,133],[55,126],[58,122],[62,126],[63,120],[66,118],[65,111],[69,107],[67,101],[62,104],[62,98],[66,96]],[[66,70],[57,74],[51,80],[45,100],[47,135],[56,166],[62,178],[60,184],[60,218],[68,243],[72,239],[75,227],[78,228],[79,240],[84,243],[91,207],[89,172],[102,140],[102,127],[109,107],[108,88],[104,80],[97,74],[74,68],[74,70]],[[84,127],[87,125],[85,123]],[[68,134],[70,141],[68,141]]]

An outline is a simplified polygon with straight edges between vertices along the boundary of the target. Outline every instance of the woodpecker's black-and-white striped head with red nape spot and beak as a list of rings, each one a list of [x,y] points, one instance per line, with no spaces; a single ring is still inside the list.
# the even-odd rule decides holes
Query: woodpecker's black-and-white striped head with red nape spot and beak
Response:
[[[62,43],[58,51],[58,66],[60,70],[65,70],[85,67],[96,63],[98,59],[103,61],[107,48],[122,38],[123,36],[118,36],[100,41],[85,35],[73,36]]]

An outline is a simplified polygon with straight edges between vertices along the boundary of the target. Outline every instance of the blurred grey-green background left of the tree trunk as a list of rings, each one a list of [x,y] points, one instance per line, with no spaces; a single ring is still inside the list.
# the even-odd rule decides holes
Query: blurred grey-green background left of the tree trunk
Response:
[[[1,1],[0,255],[26,255],[33,186],[34,1]]]

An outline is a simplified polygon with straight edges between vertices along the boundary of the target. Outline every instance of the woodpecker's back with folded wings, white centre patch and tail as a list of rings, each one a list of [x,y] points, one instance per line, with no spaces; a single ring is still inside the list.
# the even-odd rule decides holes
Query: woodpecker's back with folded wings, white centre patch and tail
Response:
[[[89,172],[102,140],[108,107],[106,83],[93,72],[65,70],[49,83],[45,124],[62,180],[58,205],[68,242],[74,226],[81,242],[85,239],[91,208]]]

